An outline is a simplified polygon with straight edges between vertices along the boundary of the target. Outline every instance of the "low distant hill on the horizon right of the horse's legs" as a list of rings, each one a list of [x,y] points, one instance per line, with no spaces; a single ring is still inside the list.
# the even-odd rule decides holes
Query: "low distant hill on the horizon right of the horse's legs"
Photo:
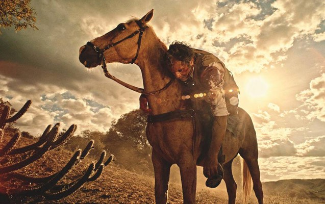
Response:
[[[268,195],[283,195],[297,198],[311,198],[325,201],[324,179],[290,179],[263,183]]]

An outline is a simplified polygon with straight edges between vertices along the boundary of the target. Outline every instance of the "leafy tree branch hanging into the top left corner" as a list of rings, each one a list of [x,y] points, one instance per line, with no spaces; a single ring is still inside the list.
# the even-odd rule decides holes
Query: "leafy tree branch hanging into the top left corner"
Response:
[[[30,7],[30,2],[31,0],[1,0],[0,29],[14,26],[16,32],[27,27],[38,30],[35,25],[36,13]]]

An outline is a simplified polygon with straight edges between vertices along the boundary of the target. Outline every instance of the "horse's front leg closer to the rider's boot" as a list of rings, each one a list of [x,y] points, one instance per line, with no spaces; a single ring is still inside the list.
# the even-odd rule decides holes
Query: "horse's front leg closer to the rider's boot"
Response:
[[[195,203],[196,194],[196,163],[192,155],[178,163],[181,172],[183,202]]]

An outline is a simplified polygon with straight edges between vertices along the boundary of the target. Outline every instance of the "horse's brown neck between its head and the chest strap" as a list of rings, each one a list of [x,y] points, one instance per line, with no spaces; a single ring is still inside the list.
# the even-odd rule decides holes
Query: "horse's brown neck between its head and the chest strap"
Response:
[[[145,91],[159,90],[171,80],[169,71],[163,67],[163,54],[166,52],[166,48],[160,44],[158,38],[155,40],[154,43],[144,46],[147,50],[138,64],[142,72]],[[179,83],[174,81],[166,90],[155,95],[148,95],[147,99],[154,115],[180,109]]]

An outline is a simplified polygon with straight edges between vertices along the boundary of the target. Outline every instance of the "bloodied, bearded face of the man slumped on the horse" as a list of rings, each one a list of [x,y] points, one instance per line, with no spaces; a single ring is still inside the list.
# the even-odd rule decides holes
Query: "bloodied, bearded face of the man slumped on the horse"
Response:
[[[192,59],[190,61],[190,66],[188,66],[187,63],[172,58],[172,65],[170,67],[170,71],[174,74],[177,79],[185,82],[189,77],[191,67],[193,66],[193,61],[194,60]]]

